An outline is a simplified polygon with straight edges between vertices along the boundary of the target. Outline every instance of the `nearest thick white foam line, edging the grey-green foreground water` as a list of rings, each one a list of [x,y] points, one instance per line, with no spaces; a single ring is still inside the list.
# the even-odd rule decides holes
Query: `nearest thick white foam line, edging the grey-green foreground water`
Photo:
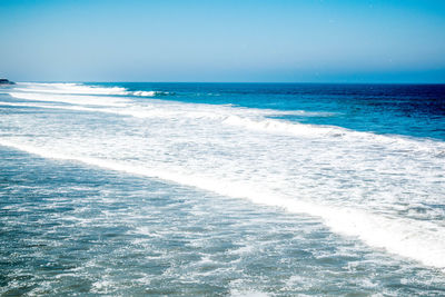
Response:
[[[291,212],[319,217],[335,232],[354,236],[369,246],[384,248],[445,271],[445,231],[443,227],[421,220],[393,218],[352,207],[318,205],[295,197],[279,196],[274,191],[243,182],[214,179],[199,175],[184,175],[175,167],[148,168],[112,159],[90,158],[62,154],[56,150],[0,139],[0,145],[34,154],[43,158],[75,160],[105,169],[159,178],[180,185],[209,190],[222,196],[249,199],[253,202],[280,207]],[[294,198],[294,199],[293,199]],[[296,230],[297,231],[297,230]]]

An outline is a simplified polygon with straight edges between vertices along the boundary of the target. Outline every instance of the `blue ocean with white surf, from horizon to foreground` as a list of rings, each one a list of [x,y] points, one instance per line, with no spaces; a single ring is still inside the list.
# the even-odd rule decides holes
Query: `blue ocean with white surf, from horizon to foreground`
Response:
[[[0,87],[2,296],[444,296],[445,85]]]

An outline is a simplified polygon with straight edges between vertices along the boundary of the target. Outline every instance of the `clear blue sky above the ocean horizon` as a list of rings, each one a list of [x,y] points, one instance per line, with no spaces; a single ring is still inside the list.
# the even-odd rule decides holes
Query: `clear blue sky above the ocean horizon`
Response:
[[[0,77],[445,83],[445,1],[0,0]]]

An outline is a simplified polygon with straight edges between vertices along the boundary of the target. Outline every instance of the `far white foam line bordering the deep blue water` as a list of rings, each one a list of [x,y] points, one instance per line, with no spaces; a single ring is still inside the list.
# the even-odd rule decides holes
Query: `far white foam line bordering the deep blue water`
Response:
[[[36,105],[36,107],[41,108],[60,108],[85,110],[91,112],[106,112],[121,116],[130,116],[135,118],[211,119],[219,121],[221,125],[275,135],[287,135],[306,138],[333,137],[347,139],[348,141],[367,140],[372,142],[385,143],[392,147],[398,147],[399,149],[425,151],[427,154],[436,156],[442,156],[445,151],[445,145],[443,142],[429,139],[375,135],[372,132],[353,131],[335,126],[316,126],[267,118],[274,115],[280,115],[280,112],[286,115],[289,111],[246,109],[201,103],[179,103],[175,101],[166,102],[162,100],[152,100],[150,101],[151,103],[149,106],[140,106],[135,105],[131,100],[126,98],[108,96],[62,96],[22,92],[10,92],[10,96],[24,100],[87,106],[83,108],[75,108],[72,106],[50,107],[49,105]],[[91,108],[92,106],[100,106],[103,108]]]

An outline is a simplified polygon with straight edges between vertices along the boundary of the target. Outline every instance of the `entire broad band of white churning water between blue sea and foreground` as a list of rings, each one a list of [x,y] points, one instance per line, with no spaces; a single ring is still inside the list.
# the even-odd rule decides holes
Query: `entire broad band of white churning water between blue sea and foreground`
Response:
[[[99,88],[86,86],[71,93],[71,85],[26,86],[10,93],[47,102],[10,105],[88,113],[4,118],[2,127],[13,132],[3,132],[0,145],[309,214],[333,231],[445,268],[445,214],[435,207],[445,197],[441,141],[268,119],[271,110],[95,97]],[[117,89],[101,91],[126,91]],[[109,122],[103,113],[129,117]],[[91,119],[102,121],[92,127]]]

